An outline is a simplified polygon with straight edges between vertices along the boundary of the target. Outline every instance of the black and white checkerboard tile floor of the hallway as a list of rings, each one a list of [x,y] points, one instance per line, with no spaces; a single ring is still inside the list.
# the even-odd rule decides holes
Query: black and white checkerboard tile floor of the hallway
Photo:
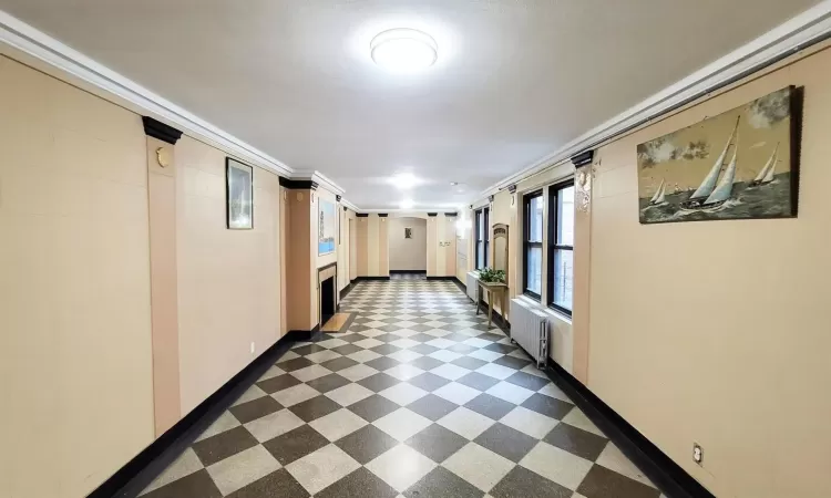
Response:
[[[146,498],[658,498],[448,281],[360,282]]]

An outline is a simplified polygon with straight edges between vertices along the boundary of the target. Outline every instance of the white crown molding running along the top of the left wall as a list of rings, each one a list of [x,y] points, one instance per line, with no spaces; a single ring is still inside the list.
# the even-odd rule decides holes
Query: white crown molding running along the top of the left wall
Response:
[[[269,169],[280,176],[314,180],[334,194],[342,195],[345,191],[322,173],[293,169],[253,145],[2,10],[0,10],[0,44],[6,44],[54,68],[62,76],[69,76],[69,79],[61,77],[69,84],[73,84],[74,79],[92,85],[107,96],[115,97],[107,100],[119,104],[126,103],[132,111],[141,110],[138,114],[150,114],[154,120],[215,145],[243,162]],[[156,138],[167,142],[165,138]],[[355,209],[351,203],[343,201],[343,204]]]

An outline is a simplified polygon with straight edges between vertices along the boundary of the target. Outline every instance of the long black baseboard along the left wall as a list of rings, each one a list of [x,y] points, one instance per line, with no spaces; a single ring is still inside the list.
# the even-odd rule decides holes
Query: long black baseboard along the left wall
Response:
[[[132,460],[88,495],[88,498],[133,498],[170,466],[211,424],[274,365],[291,344],[317,332],[290,331],[234,375],[214,394],[162,434]]]

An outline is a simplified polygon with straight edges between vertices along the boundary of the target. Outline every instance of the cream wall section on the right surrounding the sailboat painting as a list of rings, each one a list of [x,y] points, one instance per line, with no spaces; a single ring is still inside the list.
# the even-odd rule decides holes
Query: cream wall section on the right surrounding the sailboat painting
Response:
[[[638,224],[637,144],[789,84],[799,218]],[[597,153],[588,386],[719,497],[831,496],[829,89],[824,50]]]

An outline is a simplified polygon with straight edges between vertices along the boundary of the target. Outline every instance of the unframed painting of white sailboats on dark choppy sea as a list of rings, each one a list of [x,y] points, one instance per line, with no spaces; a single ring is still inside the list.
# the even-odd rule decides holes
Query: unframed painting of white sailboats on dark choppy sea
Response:
[[[637,147],[642,224],[797,216],[801,89]]]

